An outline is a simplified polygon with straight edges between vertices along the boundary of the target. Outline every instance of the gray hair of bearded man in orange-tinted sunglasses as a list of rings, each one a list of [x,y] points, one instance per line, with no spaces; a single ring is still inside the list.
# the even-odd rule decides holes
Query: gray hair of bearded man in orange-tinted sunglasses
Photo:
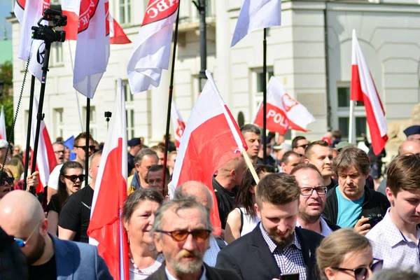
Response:
[[[172,210],[175,214],[178,214],[178,211],[183,209],[199,209],[201,211],[202,218],[205,220],[205,228],[213,231],[209,212],[206,207],[197,202],[194,197],[183,197],[181,199],[167,200],[161,207],[159,207],[158,211],[155,212],[155,223],[153,223],[151,234],[162,230],[162,218],[167,211]]]

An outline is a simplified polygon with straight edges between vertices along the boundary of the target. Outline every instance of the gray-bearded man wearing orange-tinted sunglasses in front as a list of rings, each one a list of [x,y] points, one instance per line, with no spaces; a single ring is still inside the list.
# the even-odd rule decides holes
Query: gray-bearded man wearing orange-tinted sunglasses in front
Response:
[[[203,262],[212,230],[209,212],[192,197],[165,202],[156,211],[151,230],[165,265],[148,279],[239,279],[235,272]]]

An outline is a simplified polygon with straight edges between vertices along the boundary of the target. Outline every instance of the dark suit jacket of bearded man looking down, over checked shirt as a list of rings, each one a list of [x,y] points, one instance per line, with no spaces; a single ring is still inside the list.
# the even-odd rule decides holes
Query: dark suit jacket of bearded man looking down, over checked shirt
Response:
[[[320,279],[316,269],[315,251],[323,236],[302,228],[296,228],[295,232],[302,248],[307,280]],[[217,255],[216,267],[232,269],[243,280],[272,280],[279,278],[281,274],[274,255],[262,237],[259,224],[248,235],[223,248]]]

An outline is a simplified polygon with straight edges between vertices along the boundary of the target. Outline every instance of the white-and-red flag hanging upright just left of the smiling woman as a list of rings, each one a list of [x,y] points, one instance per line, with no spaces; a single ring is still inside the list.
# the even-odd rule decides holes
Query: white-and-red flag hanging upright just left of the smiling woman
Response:
[[[123,205],[127,199],[127,123],[123,81],[106,135],[94,189],[87,235],[97,244],[113,279],[128,280],[128,243],[123,229]]]

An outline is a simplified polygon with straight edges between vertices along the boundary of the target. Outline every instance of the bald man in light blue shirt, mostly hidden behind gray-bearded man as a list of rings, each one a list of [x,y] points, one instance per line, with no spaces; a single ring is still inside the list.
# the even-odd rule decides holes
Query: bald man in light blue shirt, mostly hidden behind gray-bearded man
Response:
[[[179,199],[183,197],[194,197],[197,202],[204,205],[209,209],[209,213],[213,206],[213,197],[210,193],[209,188],[207,188],[203,183],[197,181],[188,181],[183,183],[179,188],[176,188],[174,193],[174,199]],[[210,235],[209,238],[209,248],[206,253],[204,253],[204,262],[207,265],[214,267],[216,265],[216,258],[218,252],[226,246],[225,241],[221,237]]]

